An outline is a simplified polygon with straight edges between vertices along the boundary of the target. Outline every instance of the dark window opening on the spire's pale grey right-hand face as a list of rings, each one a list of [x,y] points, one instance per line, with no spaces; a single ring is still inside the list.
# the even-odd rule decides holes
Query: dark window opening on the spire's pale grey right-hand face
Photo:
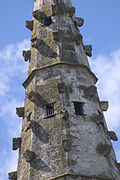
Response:
[[[84,115],[83,111],[83,102],[73,102],[74,103],[74,109],[75,109],[75,114],[77,115]]]

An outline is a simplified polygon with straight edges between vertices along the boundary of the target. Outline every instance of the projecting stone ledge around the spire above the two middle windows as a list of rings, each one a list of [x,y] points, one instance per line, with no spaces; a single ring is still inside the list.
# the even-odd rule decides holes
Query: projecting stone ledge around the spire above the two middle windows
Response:
[[[38,68],[38,69],[34,69],[30,75],[27,77],[27,79],[23,82],[23,87],[26,88],[28,86],[28,84],[32,81],[32,79],[35,77],[36,73],[38,71],[46,71],[47,68],[63,68],[65,66],[70,66],[72,68],[74,67],[78,67],[78,68],[85,68],[94,78],[94,83],[96,83],[98,81],[98,78],[94,75],[94,73],[85,65],[76,65],[76,64],[68,64],[68,63],[57,63],[57,64],[52,64],[50,66],[45,66],[42,68]]]

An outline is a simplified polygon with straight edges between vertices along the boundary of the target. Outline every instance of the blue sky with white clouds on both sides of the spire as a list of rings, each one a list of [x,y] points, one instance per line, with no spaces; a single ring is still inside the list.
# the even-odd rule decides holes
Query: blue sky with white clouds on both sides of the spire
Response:
[[[9,171],[16,170],[17,151],[12,151],[12,138],[20,136],[21,119],[15,114],[22,106],[25,90],[22,82],[27,76],[28,64],[21,56],[29,49],[31,32],[25,21],[32,19],[33,0],[2,1],[0,9],[0,180],[7,179]],[[72,0],[76,16],[85,19],[80,28],[84,44],[92,44],[93,57],[89,59],[101,100],[109,101],[105,113],[110,130],[120,138],[120,1]],[[120,161],[120,142],[113,143]]]

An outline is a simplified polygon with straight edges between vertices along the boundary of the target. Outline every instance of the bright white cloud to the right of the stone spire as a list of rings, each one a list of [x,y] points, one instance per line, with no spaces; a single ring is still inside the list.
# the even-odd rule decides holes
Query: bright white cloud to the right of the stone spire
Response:
[[[110,55],[98,55],[90,59],[92,70],[99,81],[97,83],[101,100],[109,101],[105,113],[109,129],[120,129],[120,50]]]

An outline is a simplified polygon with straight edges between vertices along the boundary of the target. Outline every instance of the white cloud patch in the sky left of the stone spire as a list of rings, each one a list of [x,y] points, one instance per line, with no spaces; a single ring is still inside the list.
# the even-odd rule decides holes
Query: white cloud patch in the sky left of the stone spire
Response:
[[[29,40],[24,40],[0,51],[0,126],[5,129],[0,141],[0,180],[8,179],[8,172],[17,168],[18,152],[12,151],[12,138],[20,136],[21,119],[16,115],[16,107],[23,106],[21,81],[27,75],[28,63],[24,62],[22,51],[29,46]],[[19,88],[15,86],[16,80]],[[23,99],[17,93],[22,93]]]

